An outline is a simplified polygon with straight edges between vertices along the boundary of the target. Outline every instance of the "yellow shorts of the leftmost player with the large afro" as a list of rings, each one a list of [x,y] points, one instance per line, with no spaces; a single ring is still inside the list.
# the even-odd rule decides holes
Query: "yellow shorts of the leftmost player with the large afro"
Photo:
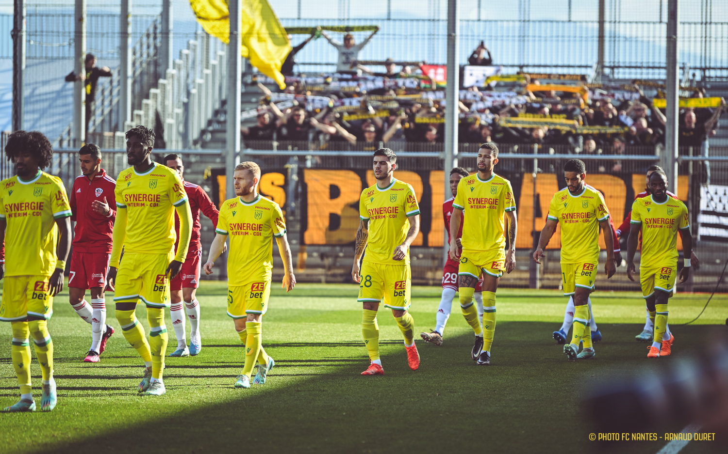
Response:
[[[53,296],[50,276],[5,276],[0,303],[0,320],[17,322],[28,316],[50,320]]]

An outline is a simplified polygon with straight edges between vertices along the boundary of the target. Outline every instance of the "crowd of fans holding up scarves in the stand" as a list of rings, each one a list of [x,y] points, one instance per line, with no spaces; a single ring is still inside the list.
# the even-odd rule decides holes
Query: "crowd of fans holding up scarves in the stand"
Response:
[[[257,79],[263,96],[256,126],[242,128],[245,142],[307,141],[331,150],[375,150],[383,145],[403,150],[408,143],[419,144],[416,150],[435,150],[428,144],[443,142],[444,89],[424,64],[387,59],[375,63],[384,66],[384,72],[377,72],[370,68],[372,62],[363,65],[358,60],[377,31],[360,44],[349,33],[342,44],[324,31],[317,32],[339,52],[337,72],[290,76],[293,56],[314,37],[312,33],[293,49],[290,65],[284,65],[285,92],[273,93]],[[469,63],[493,64],[482,41]],[[654,146],[664,144],[665,114],[654,107],[640,83],[597,86],[571,77],[547,83],[559,75],[537,76],[494,78],[479,88],[461,87],[459,142],[535,144],[539,153],[554,153],[557,148],[556,153],[584,154],[652,154]],[[699,89],[691,93],[692,97],[704,94]],[[715,108],[681,109],[678,145],[701,147],[716,133],[724,105],[721,100]]]

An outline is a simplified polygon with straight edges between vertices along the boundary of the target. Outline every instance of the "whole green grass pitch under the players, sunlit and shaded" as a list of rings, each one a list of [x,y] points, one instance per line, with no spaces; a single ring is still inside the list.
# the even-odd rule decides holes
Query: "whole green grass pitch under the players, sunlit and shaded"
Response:
[[[280,284],[278,284],[280,285]],[[124,340],[108,296],[116,334],[98,364],[82,362],[90,325],[76,316],[68,293],[55,298],[50,333],[55,345],[58,406],[52,413],[0,414],[1,453],[573,453],[595,450],[595,428],[579,398],[609,373],[660,370],[702,349],[725,331],[728,297],[716,295],[694,325],[707,294],[670,299],[673,355],[648,361],[634,336],[644,324],[638,292],[593,294],[604,336],[595,360],[567,362],[551,339],[566,299],[558,291],[502,289],[489,368],[470,359],[472,331],[454,302],[443,346],[417,341],[422,365],[409,370],[391,312],[379,315],[386,375],[362,377],[368,365],[361,341],[355,285],[301,284],[272,292],[264,317],[264,346],[276,360],[268,383],[234,389],[244,351],[227,317],[226,286],[204,281],[202,352],[166,360],[162,397],[140,397],[141,358]],[[430,331],[440,288],[413,288],[416,332]],[[143,306],[138,318],[146,325]],[[170,344],[175,334],[167,312]],[[712,325],[712,326],[710,326]],[[189,335],[189,326],[188,326]],[[17,401],[10,363],[9,323],[0,324],[0,405]],[[417,338],[419,339],[419,337]],[[39,402],[40,369],[33,353]],[[681,428],[665,428],[675,431]],[[598,428],[596,428],[598,431]],[[639,442],[620,452],[656,453],[665,442]],[[705,452],[688,445],[683,453]],[[699,451],[698,449],[702,450]],[[588,451],[587,451],[588,452]]]

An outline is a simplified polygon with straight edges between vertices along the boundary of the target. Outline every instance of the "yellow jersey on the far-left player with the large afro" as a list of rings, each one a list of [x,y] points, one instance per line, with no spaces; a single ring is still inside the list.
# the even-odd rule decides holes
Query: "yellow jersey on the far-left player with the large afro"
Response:
[[[60,178],[38,171],[28,182],[17,175],[2,180],[0,219],[6,224],[5,275],[52,275],[58,243],[55,220],[68,216],[71,206]]]

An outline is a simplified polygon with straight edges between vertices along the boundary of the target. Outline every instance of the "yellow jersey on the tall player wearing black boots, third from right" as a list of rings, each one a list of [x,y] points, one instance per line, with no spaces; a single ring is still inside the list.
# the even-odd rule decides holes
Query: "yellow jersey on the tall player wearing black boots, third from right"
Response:
[[[503,214],[515,211],[510,181],[496,174],[486,180],[478,174],[465,177],[457,185],[453,207],[464,211],[463,254],[505,248]]]

